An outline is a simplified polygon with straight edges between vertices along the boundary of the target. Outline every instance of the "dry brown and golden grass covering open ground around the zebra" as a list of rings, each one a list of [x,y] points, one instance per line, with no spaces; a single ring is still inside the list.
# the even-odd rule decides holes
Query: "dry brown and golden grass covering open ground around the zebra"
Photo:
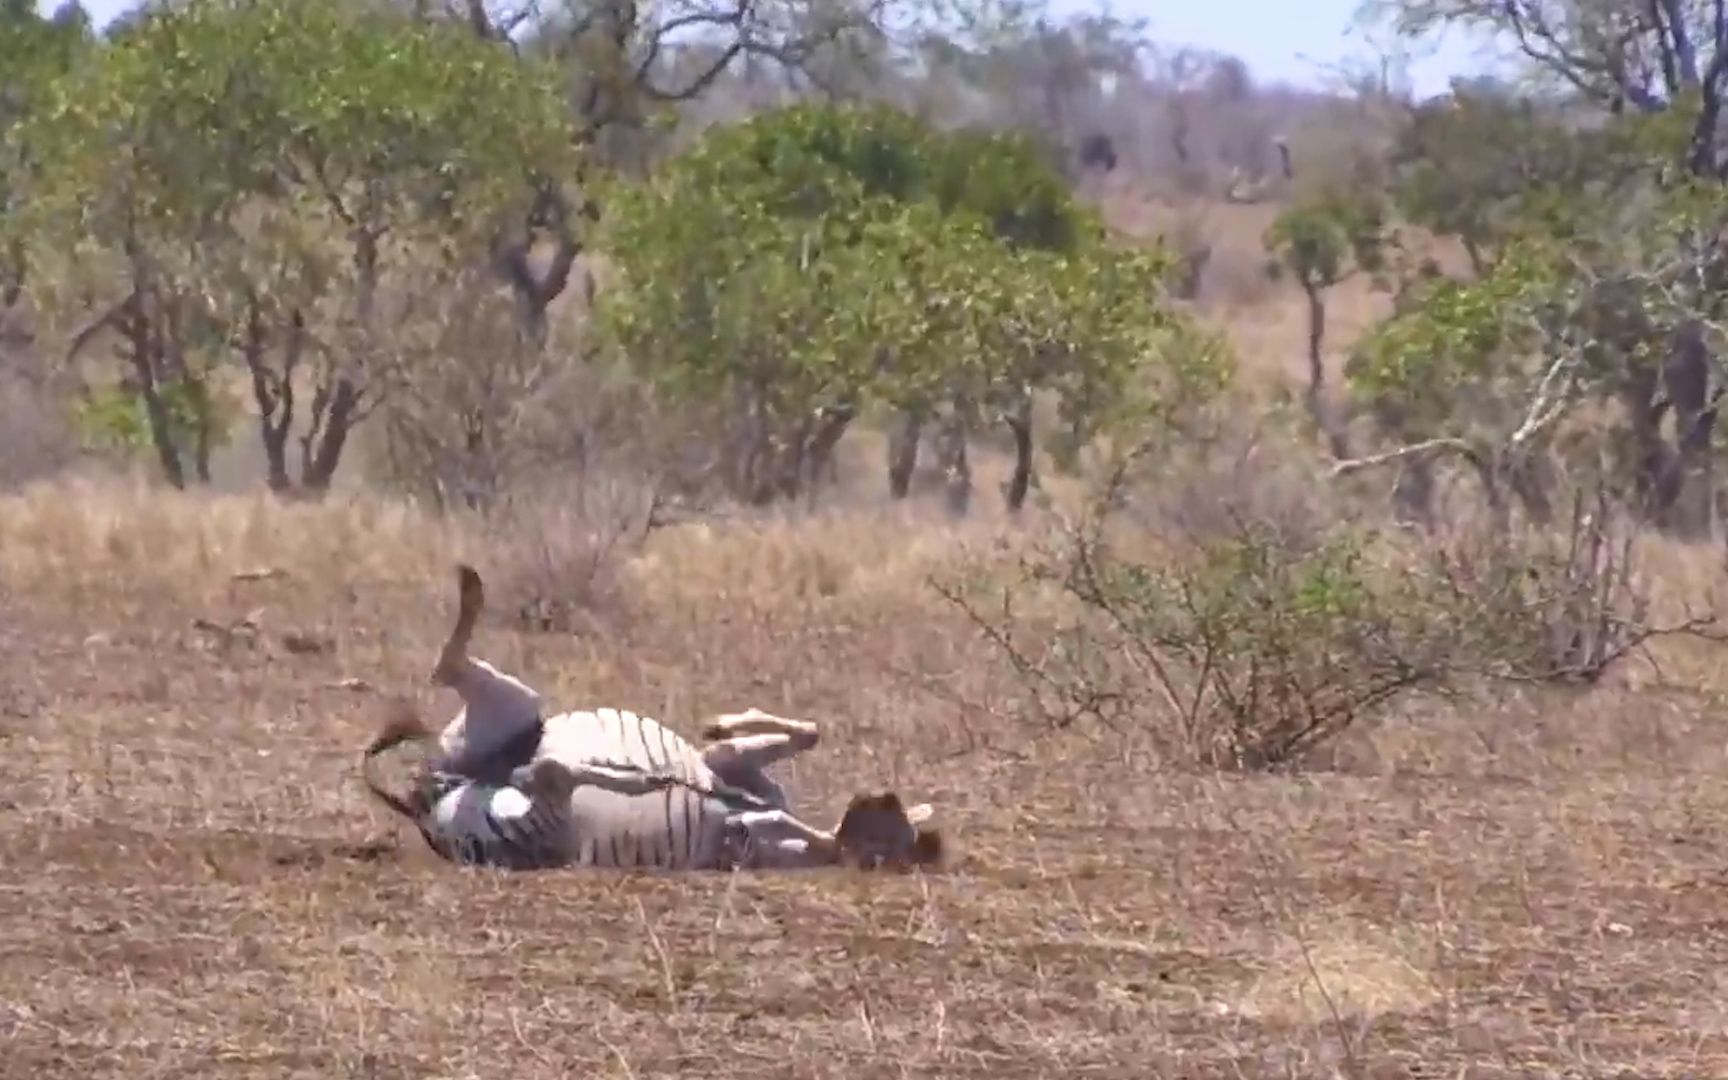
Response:
[[[1728,1075],[1702,660],[1410,708],[1305,778],[1149,772],[1021,715],[924,588],[1021,532],[914,517],[664,530],[582,634],[482,629],[565,705],[816,717],[800,807],[893,786],[954,848],[672,880],[461,871],[361,797],[382,693],[451,708],[453,560],[508,537],[365,496],[0,499],[0,1075]]]

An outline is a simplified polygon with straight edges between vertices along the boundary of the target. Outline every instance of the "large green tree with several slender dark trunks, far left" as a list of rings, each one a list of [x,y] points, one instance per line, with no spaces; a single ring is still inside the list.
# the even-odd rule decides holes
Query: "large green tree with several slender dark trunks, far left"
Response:
[[[544,69],[340,0],[150,10],[57,83],[36,137],[36,237],[86,273],[119,268],[104,318],[131,342],[168,479],[161,387],[240,359],[271,486],[292,486],[301,415],[309,491],[389,385],[384,306],[411,302],[408,271],[470,257],[527,176],[569,159]]]

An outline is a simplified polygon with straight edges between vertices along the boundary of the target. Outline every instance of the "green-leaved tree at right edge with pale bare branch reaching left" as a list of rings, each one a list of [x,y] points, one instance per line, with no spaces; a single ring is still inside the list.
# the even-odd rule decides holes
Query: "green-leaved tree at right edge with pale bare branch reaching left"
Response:
[[[1707,534],[1728,197],[1674,178],[1642,199],[1586,188],[1541,206],[1488,275],[1431,282],[1362,342],[1351,391],[1396,415],[1405,444],[1339,470],[1457,454],[1496,513],[1515,498],[1547,520],[1555,434],[1576,420],[1574,456],[1607,461],[1647,520]]]

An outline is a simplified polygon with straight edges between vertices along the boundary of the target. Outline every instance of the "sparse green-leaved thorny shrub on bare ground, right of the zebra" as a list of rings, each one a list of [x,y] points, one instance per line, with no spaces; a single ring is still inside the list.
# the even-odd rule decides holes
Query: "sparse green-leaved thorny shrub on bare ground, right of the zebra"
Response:
[[[1040,653],[980,626],[1061,724],[1144,729],[1158,714],[1166,760],[1287,766],[1400,696],[1445,686],[1450,641],[1374,555],[1348,530],[1239,520],[1222,541],[1142,562],[1092,524],[1025,567],[1020,588],[1068,601]]]

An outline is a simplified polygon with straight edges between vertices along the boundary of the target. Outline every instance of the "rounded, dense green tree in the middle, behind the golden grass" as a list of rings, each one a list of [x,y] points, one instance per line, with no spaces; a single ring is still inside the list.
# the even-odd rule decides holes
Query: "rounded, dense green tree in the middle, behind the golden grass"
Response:
[[[1030,396],[1097,411],[1173,340],[1163,252],[1111,249],[1025,140],[892,109],[714,131],[617,199],[608,238],[613,340],[667,389],[731,403],[727,468],[755,499],[800,489],[859,410],[916,423],[947,401],[1009,422],[1018,506]]]

